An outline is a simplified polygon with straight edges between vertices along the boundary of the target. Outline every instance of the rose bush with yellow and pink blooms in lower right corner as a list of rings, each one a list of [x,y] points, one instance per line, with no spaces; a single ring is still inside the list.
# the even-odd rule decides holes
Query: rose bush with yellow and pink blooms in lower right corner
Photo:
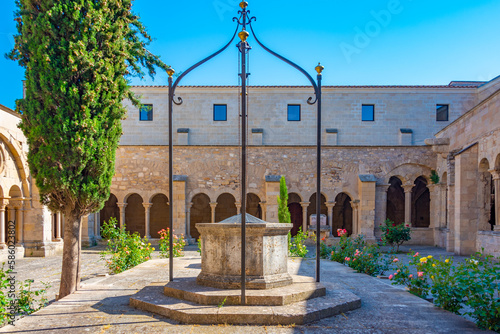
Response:
[[[411,274],[415,270],[417,277]],[[434,304],[445,310],[464,311],[482,329],[500,332],[500,264],[492,256],[476,253],[454,266],[453,258],[438,260],[416,253],[408,265],[398,263],[389,278],[419,297],[431,293]]]

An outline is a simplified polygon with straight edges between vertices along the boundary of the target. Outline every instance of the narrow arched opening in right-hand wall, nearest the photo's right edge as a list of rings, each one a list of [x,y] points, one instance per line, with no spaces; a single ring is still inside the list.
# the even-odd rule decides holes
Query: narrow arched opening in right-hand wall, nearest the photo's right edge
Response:
[[[493,230],[495,226],[495,182],[490,172],[490,163],[484,158],[479,162],[478,204],[479,229]]]

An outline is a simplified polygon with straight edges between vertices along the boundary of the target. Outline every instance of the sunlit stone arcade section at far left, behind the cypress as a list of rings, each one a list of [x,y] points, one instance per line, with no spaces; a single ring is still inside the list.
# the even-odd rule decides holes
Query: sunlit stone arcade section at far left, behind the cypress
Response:
[[[62,250],[54,215],[42,206],[27,163],[28,145],[17,127],[20,116],[0,105],[0,260],[47,256]],[[9,238],[10,236],[10,238]],[[13,255],[12,253],[10,254]]]

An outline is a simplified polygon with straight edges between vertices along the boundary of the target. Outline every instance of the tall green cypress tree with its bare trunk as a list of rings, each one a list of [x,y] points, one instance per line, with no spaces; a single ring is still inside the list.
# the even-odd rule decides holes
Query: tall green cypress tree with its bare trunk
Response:
[[[110,194],[125,115],[139,105],[127,76],[166,69],[131,0],[17,0],[18,33],[8,56],[25,70],[17,101],[40,201],[65,215],[59,297],[78,289],[82,216]]]

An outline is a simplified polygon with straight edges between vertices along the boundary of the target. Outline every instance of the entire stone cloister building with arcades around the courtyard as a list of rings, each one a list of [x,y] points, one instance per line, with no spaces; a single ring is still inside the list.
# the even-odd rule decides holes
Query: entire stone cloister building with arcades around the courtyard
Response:
[[[331,230],[346,228],[375,241],[389,218],[411,224],[412,243],[500,255],[499,89],[499,78],[446,86],[324,87],[319,200]],[[173,199],[168,198],[168,87],[134,91],[144,108],[124,102],[128,116],[111,196],[100,212],[84,219],[83,241],[98,240],[110,217],[155,239],[169,224],[169,205],[174,233],[194,240],[196,224],[240,211],[239,88],[177,89],[184,103],[174,106]],[[247,211],[277,221],[279,178],[285,175],[293,233],[307,230],[316,213],[316,106],[306,103],[311,95],[310,87],[248,89]],[[18,153],[8,153],[11,162],[0,165],[10,171],[0,179],[4,220],[23,212],[25,253],[49,254],[47,249],[60,245],[63,217],[38,204],[17,115],[2,109],[1,117],[2,154],[14,149],[14,138],[22,143]],[[432,170],[439,176],[436,183]],[[16,198],[26,211],[19,205],[16,211],[11,204]]]

